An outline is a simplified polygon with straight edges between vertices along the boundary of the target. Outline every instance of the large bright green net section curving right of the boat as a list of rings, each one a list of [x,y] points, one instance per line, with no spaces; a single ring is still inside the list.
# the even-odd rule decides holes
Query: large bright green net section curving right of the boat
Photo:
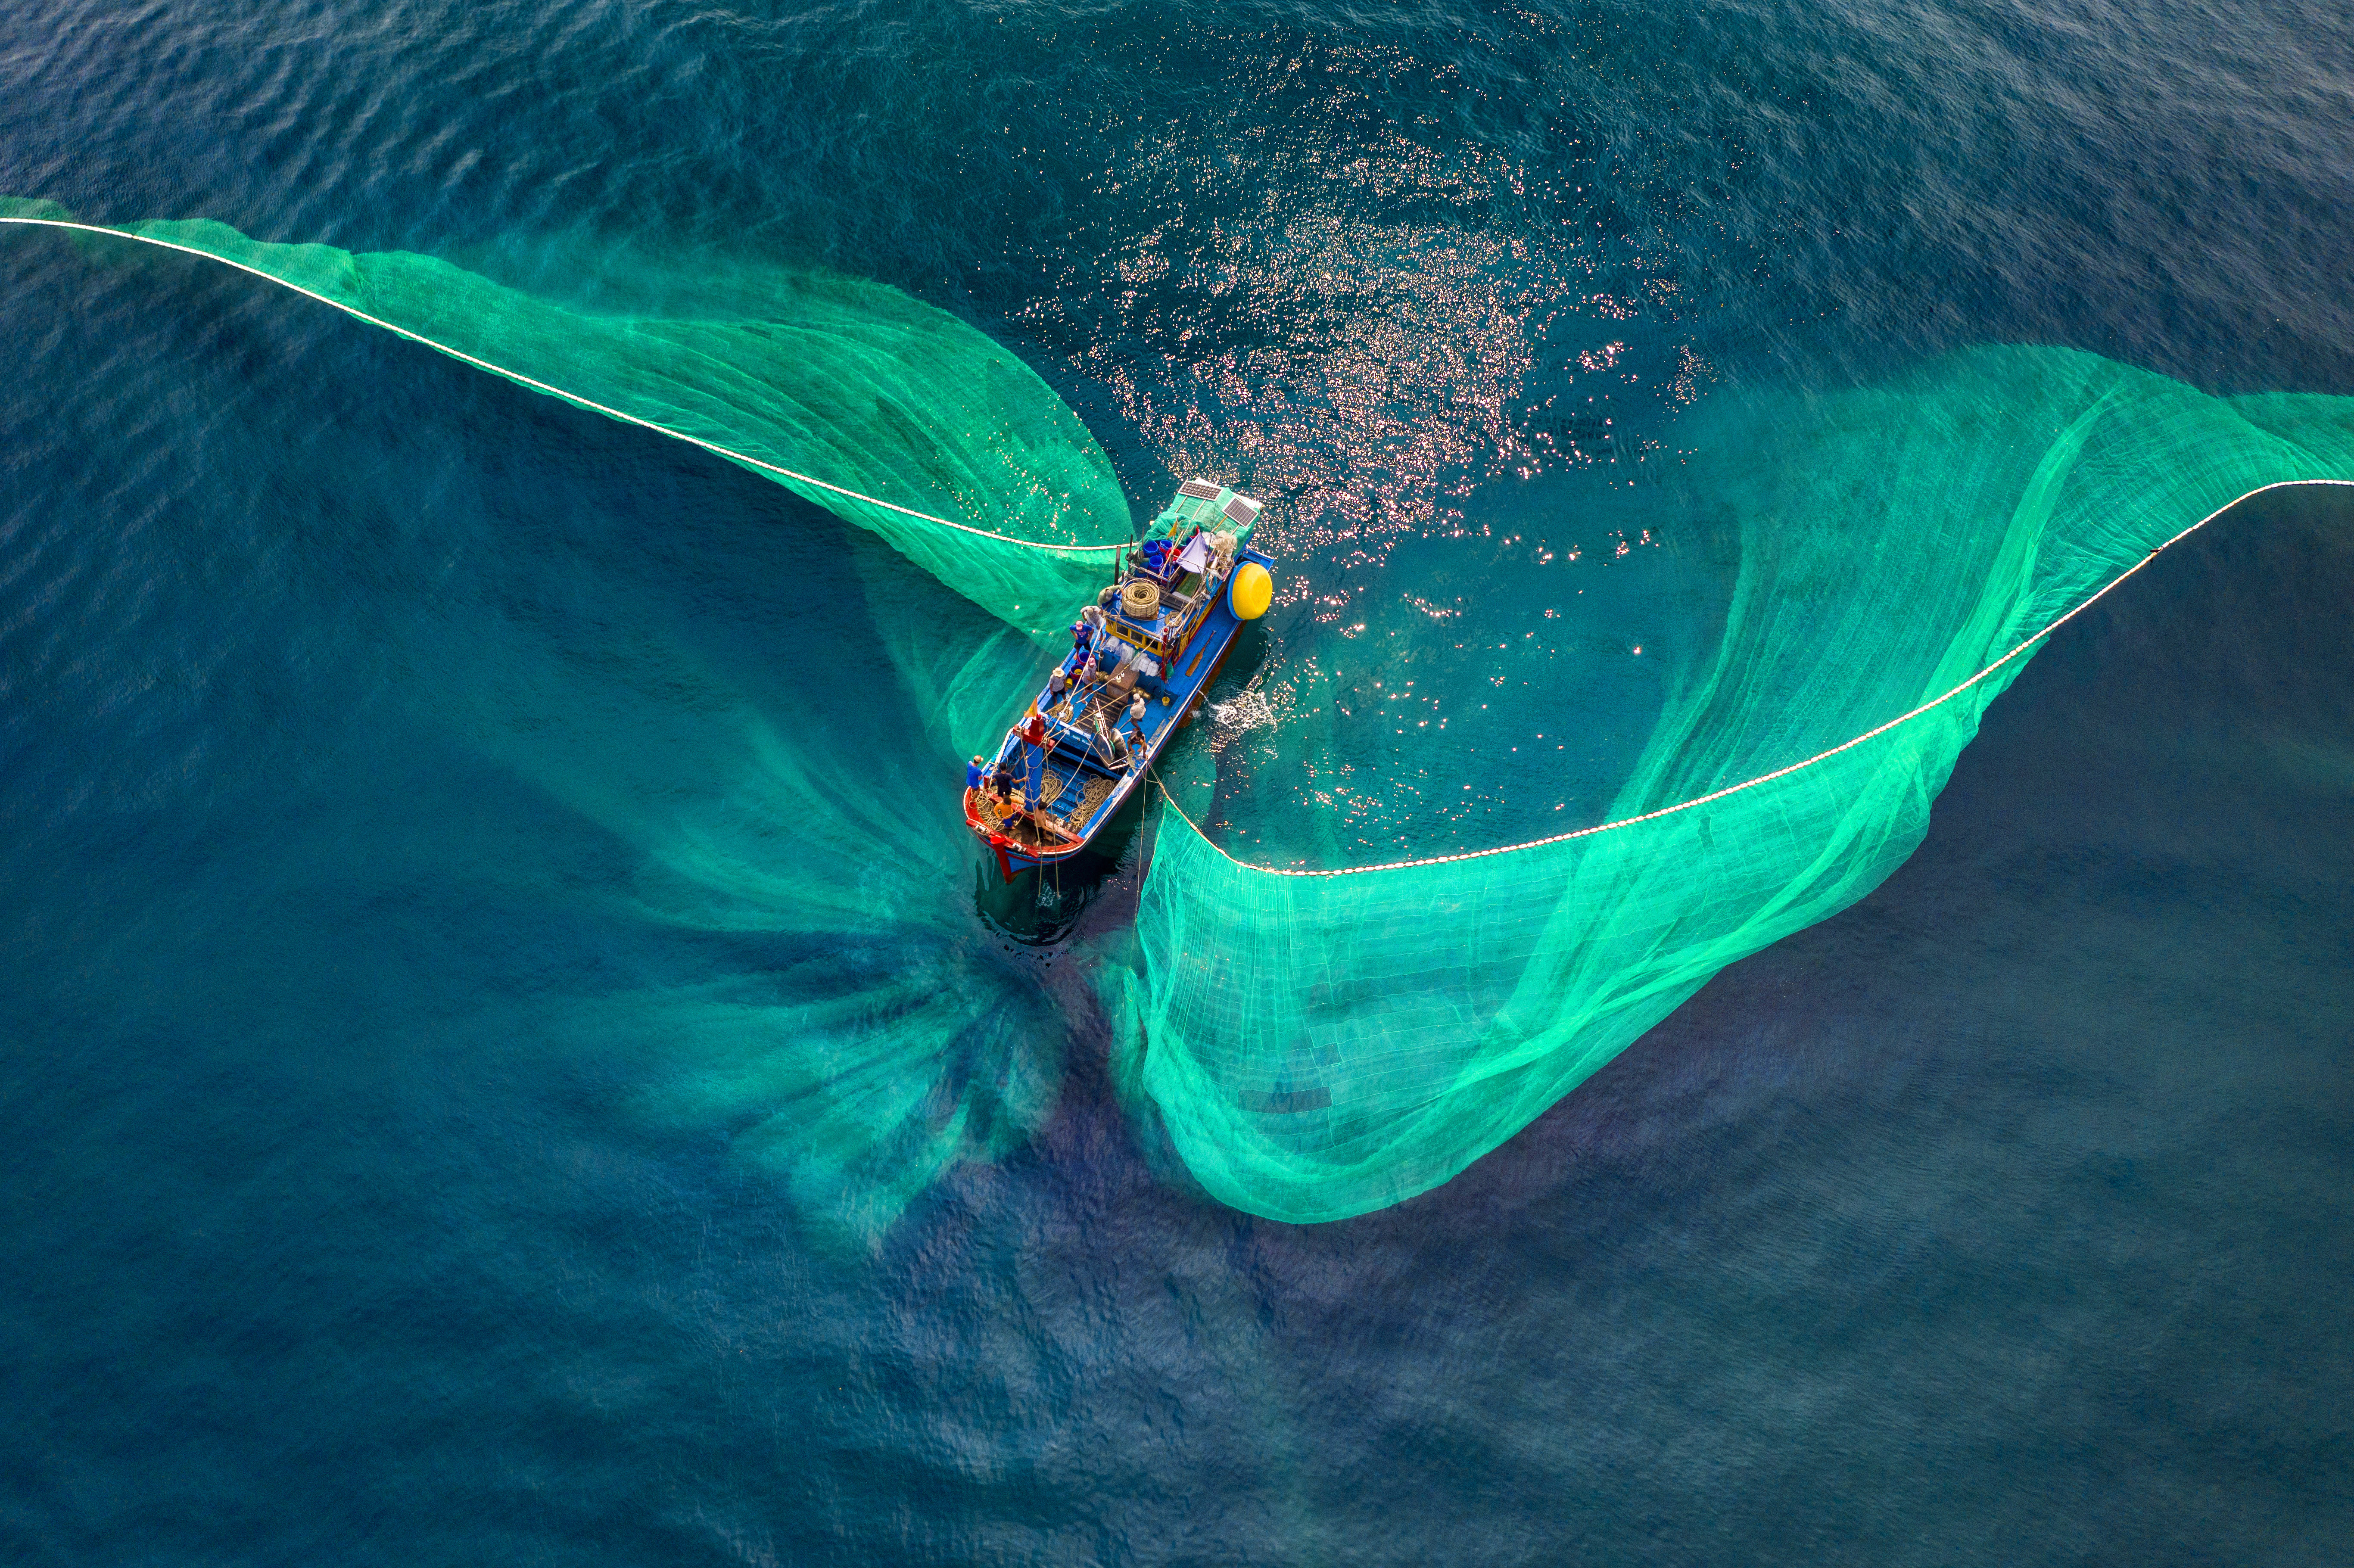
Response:
[[[1895,871],[2055,619],[2253,490],[2354,478],[2354,400],[2057,348],[1695,436],[1737,582],[1598,831],[1278,873],[1163,822],[1118,1067],[1217,1198],[1311,1222],[1445,1182]]]

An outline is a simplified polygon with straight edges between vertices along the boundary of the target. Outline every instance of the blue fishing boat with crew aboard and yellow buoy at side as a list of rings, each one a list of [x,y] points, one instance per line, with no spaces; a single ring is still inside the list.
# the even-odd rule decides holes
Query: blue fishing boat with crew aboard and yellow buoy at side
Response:
[[[1113,582],[1080,605],[1071,652],[965,768],[965,826],[1012,881],[1076,857],[1144,789],[1201,706],[1243,622],[1274,600],[1274,558],[1250,546],[1259,501],[1210,480],[1177,485]]]

